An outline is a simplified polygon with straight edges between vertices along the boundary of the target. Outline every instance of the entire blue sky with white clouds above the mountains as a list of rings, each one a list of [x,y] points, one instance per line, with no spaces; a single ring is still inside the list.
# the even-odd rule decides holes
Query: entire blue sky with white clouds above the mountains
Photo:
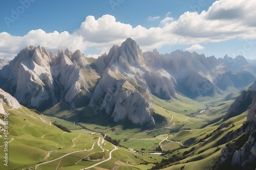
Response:
[[[254,7],[253,0],[0,1],[0,57],[27,45],[97,57],[131,37],[142,51],[256,59]]]

